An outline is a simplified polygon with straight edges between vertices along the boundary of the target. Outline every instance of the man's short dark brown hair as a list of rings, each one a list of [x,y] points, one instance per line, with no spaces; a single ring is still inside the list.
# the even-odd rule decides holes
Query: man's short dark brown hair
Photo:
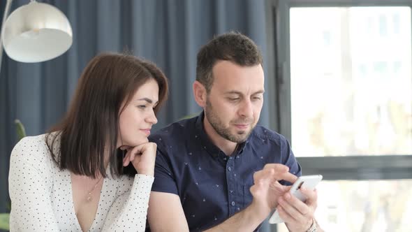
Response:
[[[212,68],[219,60],[231,61],[240,66],[263,63],[258,46],[247,36],[229,32],[216,36],[200,48],[196,65],[196,80],[209,92],[213,84]]]

